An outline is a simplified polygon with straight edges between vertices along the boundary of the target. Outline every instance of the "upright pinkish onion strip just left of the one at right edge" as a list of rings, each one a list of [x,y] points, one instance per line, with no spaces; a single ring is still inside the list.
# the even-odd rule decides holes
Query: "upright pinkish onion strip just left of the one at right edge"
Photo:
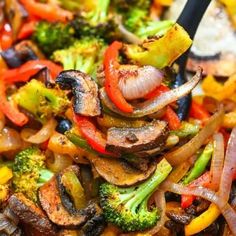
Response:
[[[214,152],[211,161],[211,188],[218,191],[224,166],[224,138],[221,133],[213,135]]]

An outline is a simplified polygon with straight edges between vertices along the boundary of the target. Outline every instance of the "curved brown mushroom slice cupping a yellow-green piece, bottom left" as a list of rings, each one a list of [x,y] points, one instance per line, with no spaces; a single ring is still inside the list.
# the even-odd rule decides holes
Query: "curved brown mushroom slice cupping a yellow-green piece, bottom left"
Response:
[[[60,198],[56,177],[39,189],[39,200],[48,218],[67,229],[80,228],[95,213],[93,207],[77,211],[75,214],[69,213]]]

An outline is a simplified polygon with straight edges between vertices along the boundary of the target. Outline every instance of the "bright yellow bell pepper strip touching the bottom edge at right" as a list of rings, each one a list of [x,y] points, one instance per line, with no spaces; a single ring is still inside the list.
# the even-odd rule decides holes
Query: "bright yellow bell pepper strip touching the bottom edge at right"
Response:
[[[211,203],[209,208],[200,216],[194,218],[188,225],[185,226],[185,235],[197,234],[200,231],[211,225],[221,214],[218,207]]]

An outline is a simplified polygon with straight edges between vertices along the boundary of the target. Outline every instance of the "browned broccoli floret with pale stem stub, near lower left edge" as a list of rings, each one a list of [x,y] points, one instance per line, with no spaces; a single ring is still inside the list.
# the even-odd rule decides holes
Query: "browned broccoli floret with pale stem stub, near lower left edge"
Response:
[[[26,197],[37,201],[37,189],[51,179],[53,173],[46,169],[45,156],[37,147],[27,148],[15,157],[13,187]]]

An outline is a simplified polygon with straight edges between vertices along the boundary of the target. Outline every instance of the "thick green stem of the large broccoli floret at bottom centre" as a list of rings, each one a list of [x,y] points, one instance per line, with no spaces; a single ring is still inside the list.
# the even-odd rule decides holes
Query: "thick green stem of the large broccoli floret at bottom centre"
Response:
[[[158,163],[156,171],[152,177],[140,184],[138,189],[133,192],[132,198],[130,198],[130,200],[128,200],[128,202],[125,204],[126,207],[130,208],[131,210],[135,210],[140,205],[140,203],[144,199],[148,198],[148,196],[154,192],[158,185],[166,179],[171,170],[172,167],[167,162],[167,160],[161,160]]]

